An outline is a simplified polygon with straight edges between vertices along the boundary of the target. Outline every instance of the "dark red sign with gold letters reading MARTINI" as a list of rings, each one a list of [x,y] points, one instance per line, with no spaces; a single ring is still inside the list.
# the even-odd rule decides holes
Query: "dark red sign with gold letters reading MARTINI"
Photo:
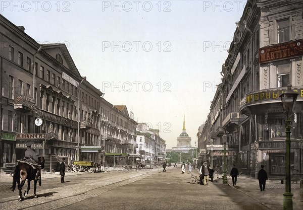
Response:
[[[301,55],[303,55],[303,39],[260,48],[259,63]]]

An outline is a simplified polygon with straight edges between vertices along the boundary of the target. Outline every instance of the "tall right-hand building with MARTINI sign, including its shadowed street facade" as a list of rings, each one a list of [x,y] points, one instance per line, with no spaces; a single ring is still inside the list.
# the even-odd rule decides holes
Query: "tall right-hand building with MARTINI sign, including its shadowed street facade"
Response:
[[[219,88],[220,121],[228,135],[227,168],[235,164],[243,174],[257,177],[265,165],[269,176],[285,175],[285,116],[279,94],[291,84],[299,93],[292,118],[291,170],[303,173],[302,4],[248,1],[236,22]]]

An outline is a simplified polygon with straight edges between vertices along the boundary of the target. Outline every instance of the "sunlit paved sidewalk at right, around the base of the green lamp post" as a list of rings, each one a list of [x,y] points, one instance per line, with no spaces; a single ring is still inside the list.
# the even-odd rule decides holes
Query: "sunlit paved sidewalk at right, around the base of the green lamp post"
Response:
[[[237,183],[232,186],[232,180],[227,176],[228,186],[244,193],[245,195],[259,201],[269,209],[282,209],[283,193],[285,192],[285,182],[281,184],[280,180],[267,180],[265,191],[260,191],[259,180],[248,176],[240,175],[237,177]],[[285,180],[284,180],[285,181]],[[214,184],[223,185],[223,178],[215,177]],[[293,193],[293,210],[303,209],[303,188],[300,189],[300,183],[291,183],[291,192]]]

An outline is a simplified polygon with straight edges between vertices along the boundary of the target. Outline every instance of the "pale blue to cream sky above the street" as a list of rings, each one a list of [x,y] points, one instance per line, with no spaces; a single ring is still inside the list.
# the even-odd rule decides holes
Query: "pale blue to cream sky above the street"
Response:
[[[65,43],[79,73],[167,149],[183,128],[196,146],[246,1],[1,1],[40,44]]]

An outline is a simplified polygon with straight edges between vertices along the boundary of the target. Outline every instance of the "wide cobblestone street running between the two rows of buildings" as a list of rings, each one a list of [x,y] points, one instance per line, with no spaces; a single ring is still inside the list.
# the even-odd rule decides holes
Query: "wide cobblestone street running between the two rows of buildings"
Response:
[[[194,175],[198,172],[193,171]],[[37,187],[37,199],[18,201],[10,191],[11,177],[1,179],[1,209],[281,209],[281,184],[269,181],[260,192],[257,180],[240,176],[237,185],[223,185],[215,179],[207,186],[192,184],[190,174],[170,167],[106,173],[67,173],[66,183],[59,175],[44,175]],[[228,177],[229,178],[229,177]],[[228,179],[230,182],[230,178]],[[24,186],[26,187],[26,186]],[[299,188],[293,184],[293,209],[301,209]],[[24,191],[24,190],[23,190]]]

